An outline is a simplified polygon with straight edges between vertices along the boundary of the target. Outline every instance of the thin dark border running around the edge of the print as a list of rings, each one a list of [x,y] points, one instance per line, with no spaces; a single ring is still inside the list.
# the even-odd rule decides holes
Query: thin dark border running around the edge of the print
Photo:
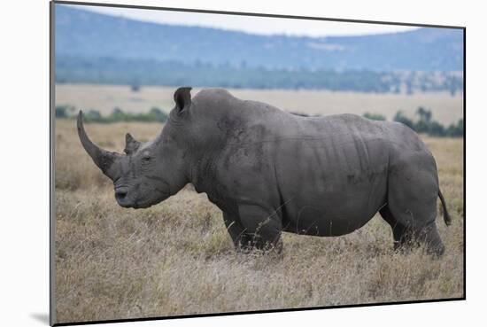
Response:
[[[467,206],[466,206],[466,191],[467,191],[467,27],[464,26],[448,26],[448,25],[435,25],[435,24],[423,24],[423,23],[405,23],[395,21],[383,21],[383,20],[365,20],[365,19],[336,19],[325,17],[313,17],[313,16],[294,16],[284,14],[270,14],[260,12],[225,12],[216,10],[200,10],[189,8],[174,8],[174,7],[159,7],[159,6],[147,6],[136,4],[105,4],[105,3],[89,3],[89,2],[77,2],[77,1],[65,1],[65,0],[50,0],[50,325],[51,326],[75,326],[84,324],[95,323],[132,323],[132,322],[146,322],[154,320],[169,320],[169,319],[181,319],[181,318],[199,318],[199,317],[212,317],[220,315],[252,315],[252,314],[269,314],[269,313],[281,313],[281,312],[295,312],[295,311],[311,311],[311,310],[323,310],[332,308],[366,308],[377,306],[393,306],[403,304],[418,304],[418,303],[437,303],[437,302],[450,302],[467,300]],[[56,323],[56,284],[55,276],[55,235],[56,235],[56,217],[55,217],[55,197],[54,197],[54,137],[55,137],[55,6],[56,4],[73,4],[73,5],[85,5],[85,6],[98,6],[98,7],[116,7],[116,8],[128,8],[128,9],[145,9],[155,11],[166,12],[197,12],[197,13],[212,13],[212,14],[225,14],[225,15],[238,15],[238,16],[253,16],[253,17],[267,17],[267,18],[281,18],[281,19],[305,19],[305,20],[325,20],[347,23],[363,23],[363,24],[380,24],[380,25],[399,25],[409,27],[436,27],[436,28],[450,28],[463,30],[463,297],[448,298],[448,299],[430,299],[430,300],[407,300],[397,302],[375,302],[375,303],[363,303],[363,304],[350,304],[350,305],[338,305],[328,307],[311,307],[311,308],[282,308],[282,309],[268,309],[268,310],[255,310],[255,311],[236,311],[236,312],[220,312],[212,314],[197,314],[197,315],[170,315],[170,316],[154,316],[143,318],[129,318],[129,319],[112,319],[112,320],[98,320],[98,321],[82,321],[72,323]]]

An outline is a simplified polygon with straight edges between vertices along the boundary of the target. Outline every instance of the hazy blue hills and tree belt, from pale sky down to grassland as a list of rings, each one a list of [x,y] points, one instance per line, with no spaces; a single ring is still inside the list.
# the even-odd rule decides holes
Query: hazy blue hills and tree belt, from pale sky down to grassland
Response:
[[[57,82],[452,94],[463,88],[460,29],[251,35],[78,8],[56,5]]]

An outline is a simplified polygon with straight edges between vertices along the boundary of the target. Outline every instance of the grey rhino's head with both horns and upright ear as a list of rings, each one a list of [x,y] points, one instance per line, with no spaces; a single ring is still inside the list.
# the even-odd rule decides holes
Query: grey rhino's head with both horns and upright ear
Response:
[[[141,143],[126,135],[124,154],[108,152],[93,144],[83,127],[80,111],[78,136],[91,159],[113,181],[115,199],[120,206],[149,207],[174,195],[189,183],[189,142],[185,116],[191,106],[191,88],[174,93],[174,109],[156,139]]]

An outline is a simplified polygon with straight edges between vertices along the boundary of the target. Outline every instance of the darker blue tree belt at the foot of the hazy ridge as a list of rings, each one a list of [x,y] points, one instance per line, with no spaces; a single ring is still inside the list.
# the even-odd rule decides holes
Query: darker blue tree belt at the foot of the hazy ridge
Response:
[[[376,72],[371,70],[271,69],[264,66],[212,65],[196,61],[121,58],[72,58],[56,61],[56,82],[220,87],[231,89],[332,90],[372,93],[463,90],[463,78],[448,72]]]

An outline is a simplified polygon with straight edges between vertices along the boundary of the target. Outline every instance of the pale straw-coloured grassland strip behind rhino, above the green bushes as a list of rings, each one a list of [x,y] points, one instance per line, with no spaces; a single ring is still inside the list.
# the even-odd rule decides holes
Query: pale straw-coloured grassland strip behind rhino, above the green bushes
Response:
[[[193,95],[198,89],[193,90]],[[405,94],[375,94],[331,92],[323,90],[229,90],[236,97],[275,105],[283,110],[307,114],[380,113],[387,119],[398,110],[414,118],[419,106],[431,110],[433,117],[448,126],[463,118],[463,96],[452,97],[447,92]],[[169,111],[174,106],[174,88],[142,87],[133,92],[128,86],[58,84],[58,105],[75,105],[78,109],[96,109],[111,113],[119,107],[129,113],[146,113],[152,106]]]

